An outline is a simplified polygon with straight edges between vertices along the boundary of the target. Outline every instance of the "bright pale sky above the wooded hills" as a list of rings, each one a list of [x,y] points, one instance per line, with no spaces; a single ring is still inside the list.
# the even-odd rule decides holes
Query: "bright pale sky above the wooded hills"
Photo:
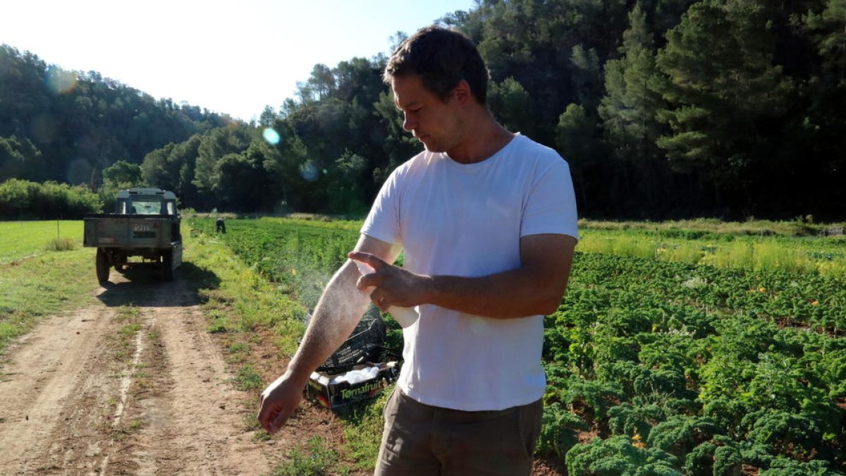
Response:
[[[0,43],[62,69],[97,71],[152,97],[258,119],[295,97],[315,64],[389,54],[475,0],[20,0]]]

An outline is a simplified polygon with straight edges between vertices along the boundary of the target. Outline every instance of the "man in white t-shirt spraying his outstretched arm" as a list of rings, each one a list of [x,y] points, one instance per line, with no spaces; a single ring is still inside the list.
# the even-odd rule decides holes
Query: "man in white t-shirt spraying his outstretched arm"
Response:
[[[276,431],[314,368],[367,306],[415,307],[385,408],[376,474],[529,474],[541,430],[543,314],[558,309],[576,244],[569,168],[498,125],[469,39],[420,30],[385,80],[404,129],[426,147],[393,171],[321,296],[288,370],[261,394]],[[390,263],[404,250],[404,267]],[[354,288],[358,288],[356,291]]]

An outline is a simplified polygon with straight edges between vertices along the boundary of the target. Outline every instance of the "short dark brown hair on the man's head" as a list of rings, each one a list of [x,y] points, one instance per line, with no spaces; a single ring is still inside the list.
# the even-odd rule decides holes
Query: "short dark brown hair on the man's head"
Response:
[[[382,78],[420,75],[423,86],[446,101],[461,80],[470,85],[476,102],[487,101],[488,71],[470,38],[458,31],[428,26],[400,44],[387,61]]]

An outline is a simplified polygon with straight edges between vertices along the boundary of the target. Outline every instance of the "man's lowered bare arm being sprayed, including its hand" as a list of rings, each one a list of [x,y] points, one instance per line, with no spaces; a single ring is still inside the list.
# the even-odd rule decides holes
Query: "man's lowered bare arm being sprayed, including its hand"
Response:
[[[398,255],[398,248],[390,243],[365,235],[361,235],[355,250],[390,263]],[[329,280],[288,369],[261,392],[258,420],[262,428],[271,433],[282,428],[302,400],[303,387],[311,373],[352,333],[369,300],[356,289],[359,277],[358,269],[348,260]]]

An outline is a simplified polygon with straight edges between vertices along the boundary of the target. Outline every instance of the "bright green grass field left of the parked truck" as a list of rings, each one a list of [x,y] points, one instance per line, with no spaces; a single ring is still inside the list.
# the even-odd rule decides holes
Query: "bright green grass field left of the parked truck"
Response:
[[[82,220],[0,222],[0,264],[45,252],[56,238],[82,246]]]

